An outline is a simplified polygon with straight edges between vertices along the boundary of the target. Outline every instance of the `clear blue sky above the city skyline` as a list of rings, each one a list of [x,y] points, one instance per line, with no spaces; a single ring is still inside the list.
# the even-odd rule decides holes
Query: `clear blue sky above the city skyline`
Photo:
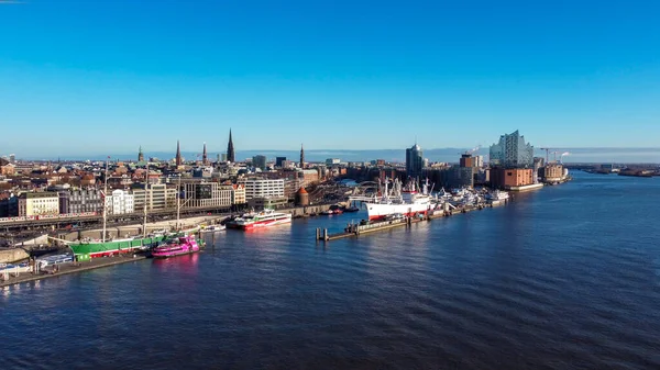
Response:
[[[660,1],[0,0],[0,154],[660,146]]]

